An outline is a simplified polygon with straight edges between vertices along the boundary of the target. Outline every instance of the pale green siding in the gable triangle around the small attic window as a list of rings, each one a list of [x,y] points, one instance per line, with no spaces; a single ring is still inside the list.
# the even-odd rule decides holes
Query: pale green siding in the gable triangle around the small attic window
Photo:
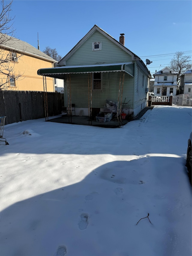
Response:
[[[101,41],[102,50],[92,51],[92,42],[95,41]],[[96,31],[66,60],[66,65],[94,65],[122,62],[132,62],[131,55]]]

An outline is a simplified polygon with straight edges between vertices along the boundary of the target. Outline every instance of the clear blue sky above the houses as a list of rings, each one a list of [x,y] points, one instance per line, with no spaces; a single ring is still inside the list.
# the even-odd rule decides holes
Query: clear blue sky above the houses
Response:
[[[169,65],[174,53],[192,50],[192,2],[151,1],[30,1],[13,0],[11,17],[16,37],[44,51],[56,48],[64,57],[96,24],[148,65],[151,74]],[[161,66],[160,66],[161,65]]]

